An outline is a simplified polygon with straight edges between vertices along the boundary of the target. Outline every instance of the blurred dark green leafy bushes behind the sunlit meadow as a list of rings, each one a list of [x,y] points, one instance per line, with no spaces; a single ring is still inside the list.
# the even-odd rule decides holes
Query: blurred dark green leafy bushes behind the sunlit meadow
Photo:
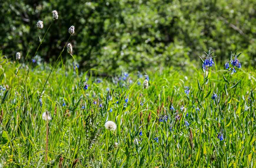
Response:
[[[14,59],[17,51],[25,56],[30,46],[31,58],[52,22],[51,11],[57,10],[59,19],[38,52],[45,61],[56,59],[74,25],[70,42],[80,67],[86,69],[184,66],[209,49],[224,65],[236,48],[243,52],[242,65],[255,65],[254,0],[7,0],[1,6],[0,50],[8,58]],[[42,30],[36,28],[38,20],[44,22]]]

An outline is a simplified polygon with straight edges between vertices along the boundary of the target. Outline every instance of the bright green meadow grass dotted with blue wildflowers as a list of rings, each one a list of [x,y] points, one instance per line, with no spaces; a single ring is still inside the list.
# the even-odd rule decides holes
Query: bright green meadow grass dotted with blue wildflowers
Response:
[[[253,67],[230,75],[215,64],[205,74],[191,64],[100,78],[74,60],[28,69],[1,57],[0,167],[255,168]]]

